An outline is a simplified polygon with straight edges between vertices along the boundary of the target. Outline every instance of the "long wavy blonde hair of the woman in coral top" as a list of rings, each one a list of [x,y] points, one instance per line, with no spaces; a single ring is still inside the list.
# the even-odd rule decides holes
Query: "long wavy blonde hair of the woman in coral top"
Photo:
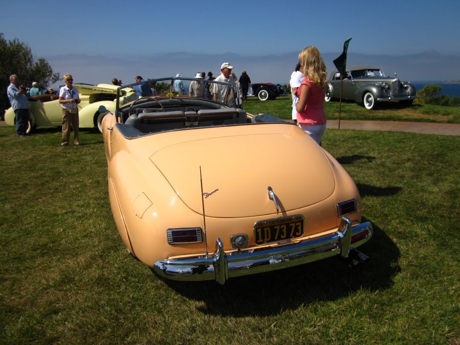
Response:
[[[298,54],[298,62],[304,68],[304,76],[315,83],[320,89],[324,89],[328,83],[326,65],[319,50],[310,45]]]

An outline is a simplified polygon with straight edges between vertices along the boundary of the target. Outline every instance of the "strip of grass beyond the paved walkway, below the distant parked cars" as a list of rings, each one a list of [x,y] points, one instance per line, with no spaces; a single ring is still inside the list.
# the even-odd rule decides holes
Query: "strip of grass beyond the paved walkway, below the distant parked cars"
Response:
[[[243,104],[250,113],[266,112],[282,119],[291,119],[291,96],[278,97],[272,101],[261,102],[256,97],[249,97]],[[324,103],[326,117],[338,120],[339,102]],[[380,121],[416,121],[460,123],[460,108],[439,105],[413,104],[403,107],[397,103],[381,103],[375,110],[366,110],[361,104],[342,102],[341,120],[380,120]]]

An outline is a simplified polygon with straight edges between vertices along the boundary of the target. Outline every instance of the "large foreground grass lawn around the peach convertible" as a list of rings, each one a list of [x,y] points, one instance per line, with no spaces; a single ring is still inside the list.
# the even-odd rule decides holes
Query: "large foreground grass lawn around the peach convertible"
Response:
[[[328,129],[324,147],[375,226],[361,247],[371,260],[224,286],[164,281],[132,259],[110,212],[102,136],[83,130],[80,142],[0,127],[3,343],[460,342],[460,137]]]

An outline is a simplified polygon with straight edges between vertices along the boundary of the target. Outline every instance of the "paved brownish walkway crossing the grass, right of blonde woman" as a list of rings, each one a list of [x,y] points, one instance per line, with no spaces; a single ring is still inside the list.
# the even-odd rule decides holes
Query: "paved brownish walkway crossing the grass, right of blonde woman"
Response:
[[[0,121],[0,126],[6,126],[5,121]],[[328,128],[338,128],[338,120],[328,120]],[[341,120],[340,129],[460,135],[460,124],[457,123]]]

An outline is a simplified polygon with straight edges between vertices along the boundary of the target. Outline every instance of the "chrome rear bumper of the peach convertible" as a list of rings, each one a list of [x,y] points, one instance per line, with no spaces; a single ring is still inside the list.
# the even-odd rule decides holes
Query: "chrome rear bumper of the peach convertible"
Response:
[[[225,254],[220,238],[209,257],[160,260],[153,269],[160,277],[178,281],[215,280],[224,284],[229,278],[268,272],[336,255],[348,257],[350,249],[369,241],[373,234],[370,222],[352,226],[342,217],[336,232],[298,243],[268,248],[252,248]]]

